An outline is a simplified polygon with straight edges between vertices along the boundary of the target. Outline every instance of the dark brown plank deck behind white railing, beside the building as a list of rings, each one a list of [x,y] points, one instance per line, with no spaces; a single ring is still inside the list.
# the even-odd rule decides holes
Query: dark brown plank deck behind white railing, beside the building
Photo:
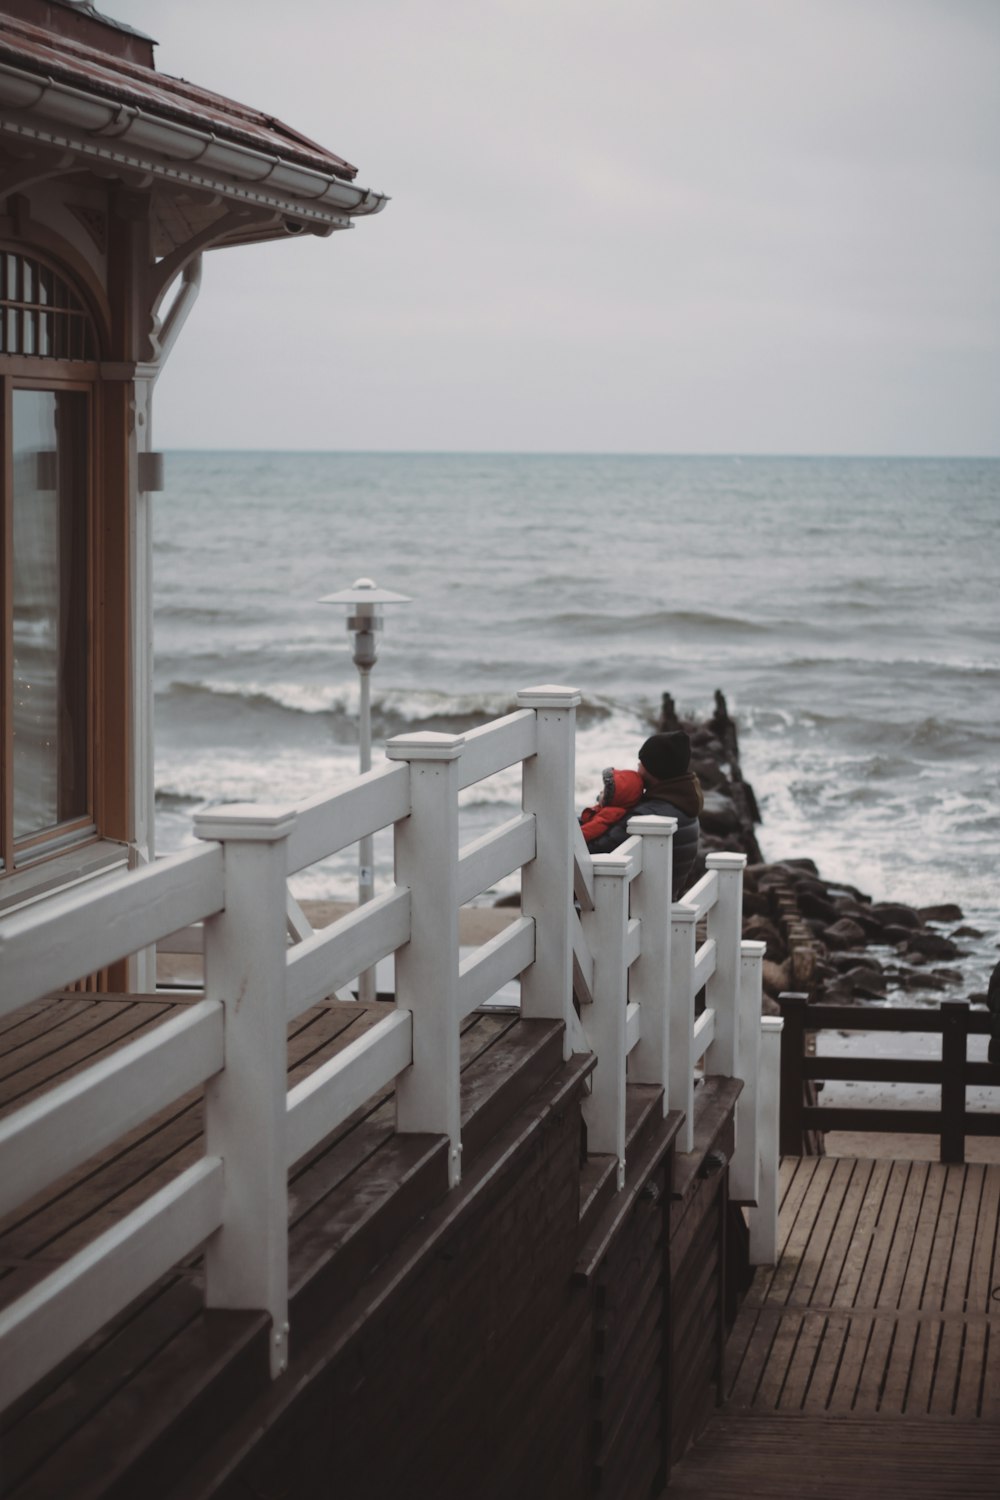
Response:
[[[0,1116],[142,1035],[199,996],[64,993],[0,1023]],[[385,1014],[384,1005],[324,1002],[288,1034],[289,1086]],[[531,1090],[562,1060],[561,1028],[511,1012],[474,1012],[462,1029],[466,1152],[495,1128],[510,1094]],[[346,1299],[400,1227],[447,1196],[447,1140],[394,1134],[391,1090],[369,1100],[297,1164],[289,1179],[292,1336],[310,1300]],[[510,1101],[502,1104],[510,1108]],[[0,1306],[79,1251],[202,1152],[201,1090],[154,1116],[0,1221]],[[357,1184],[357,1186],[355,1186]],[[336,1196],[336,1197],[334,1197]],[[235,1414],[265,1371],[267,1318],[205,1312],[201,1268],[165,1276],[0,1424],[1,1488],[16,1500],[103,1492],[109,1454],[130,1436],[156,1454],[183,1420],[190,1390],[217,1388],[216,1419]],[[264,1378],[265,1384],[265,1378]],[[169,1467],[169,1464],[166,1464]]]

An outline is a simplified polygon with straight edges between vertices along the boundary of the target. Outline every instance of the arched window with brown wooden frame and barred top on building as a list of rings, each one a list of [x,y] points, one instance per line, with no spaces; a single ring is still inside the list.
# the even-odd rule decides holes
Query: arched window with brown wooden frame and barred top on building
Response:
[[[88,838],[93,808],[93,424],[81,297],[0,249],[0,872]]]

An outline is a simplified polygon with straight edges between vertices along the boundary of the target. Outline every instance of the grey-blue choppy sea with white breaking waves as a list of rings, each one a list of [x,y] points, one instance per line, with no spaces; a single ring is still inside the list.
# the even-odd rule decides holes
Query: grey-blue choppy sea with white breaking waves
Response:
[[[357,776],[343,606],[384,609],[373,764],[522,687],[579,688],[576,795],[633,765],[661,694],[739,728],[768,860],[955,902],[964,984],[1000,945],[1000,459],[174,452],[156,500],[157,854],[211,804]],[[462,838],[519,777],[465,794]],[[391,842],[375,848],[376,890]],[[300,898],[352,898],[357,854]],[[505,894],[505,886],[484,900]]]

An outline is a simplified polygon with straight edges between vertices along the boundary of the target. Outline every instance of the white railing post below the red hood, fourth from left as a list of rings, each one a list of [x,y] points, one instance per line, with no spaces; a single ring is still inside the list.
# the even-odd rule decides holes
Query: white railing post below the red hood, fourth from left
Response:
[[[625,1008],[628,969],[628,860],[613,854],[594,858],[594,910],[585,932],[594,954],[594,1004],[586,1034],[597,1053],[594,1086],[583,1101],[588,1150],[618,1158],[618,1186],[625,1186]]]

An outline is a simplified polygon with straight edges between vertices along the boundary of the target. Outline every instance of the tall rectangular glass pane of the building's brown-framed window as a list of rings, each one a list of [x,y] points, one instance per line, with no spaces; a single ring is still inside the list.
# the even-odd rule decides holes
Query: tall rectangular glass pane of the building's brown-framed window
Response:
[[[87,396],[13,396],[13,837],[88,807]]]

